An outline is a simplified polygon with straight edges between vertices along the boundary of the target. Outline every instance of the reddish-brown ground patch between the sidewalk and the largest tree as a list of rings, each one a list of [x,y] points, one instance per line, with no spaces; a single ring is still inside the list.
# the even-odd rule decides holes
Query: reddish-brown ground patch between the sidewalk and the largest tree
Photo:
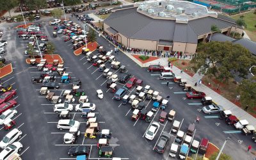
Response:
[[[192,70],[193,65],[190,63],[190,60],[176,60],[171,61],[171,63],[178,67],[179,69],[182,69],[184,72],[186,72],[189,76],[193,76],[195,72]]]

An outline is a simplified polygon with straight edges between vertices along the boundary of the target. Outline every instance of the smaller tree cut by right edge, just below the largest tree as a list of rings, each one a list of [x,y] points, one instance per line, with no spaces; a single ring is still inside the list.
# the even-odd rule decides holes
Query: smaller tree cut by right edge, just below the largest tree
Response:
[[[242,106],[256,107],[256,77],[252,79],[244,79],[239,84],[237,91],[240,94],[240,102]]]

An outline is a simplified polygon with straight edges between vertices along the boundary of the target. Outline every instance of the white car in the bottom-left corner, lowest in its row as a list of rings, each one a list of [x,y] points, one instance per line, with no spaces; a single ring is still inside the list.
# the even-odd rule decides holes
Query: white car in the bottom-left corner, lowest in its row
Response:
[[[19,141],[12,143],[12,145],[8,145],[1,153],[0,160],[9,160],[13,156],[22,150],[22,144]],[[14,160],[14,159],[13,159]]]

